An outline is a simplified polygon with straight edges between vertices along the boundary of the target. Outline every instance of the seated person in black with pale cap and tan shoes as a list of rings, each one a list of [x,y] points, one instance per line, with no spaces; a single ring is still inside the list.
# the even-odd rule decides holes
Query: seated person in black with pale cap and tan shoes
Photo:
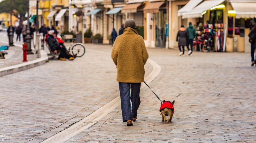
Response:
[[[68,53],[67,49],[63,45],[60,45],[60,43],[54,38],[53,35],[54,35],[54,30],[50,30],[48,32],[48,37],[46,38],[46,41],[47,41],[48,45],[50,46],[50,48],[53,52],[56,53],[57,50],[60,51],[60,55],[59,55],[58,59],[60,59],[60,60],[66,60],[66,59],[74,60],[75,58],[72,57],[72,55]]]

